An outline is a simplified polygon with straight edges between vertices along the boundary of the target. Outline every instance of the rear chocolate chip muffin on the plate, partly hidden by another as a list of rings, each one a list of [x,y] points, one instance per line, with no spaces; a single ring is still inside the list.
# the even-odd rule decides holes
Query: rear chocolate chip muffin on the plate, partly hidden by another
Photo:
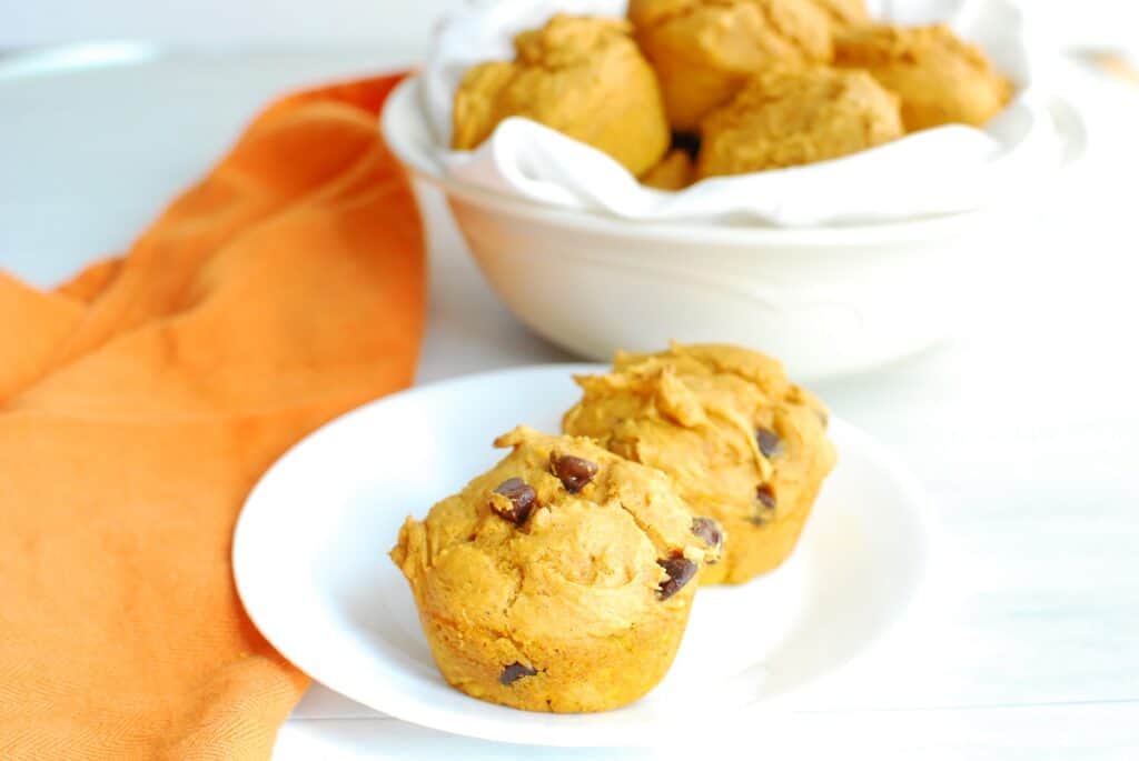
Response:
[[[723,557],[703,584],[739,584],[790,554],[834,466],[822,404],[778,362],[732,346],[618,354],[563,428],[657,468],[698,514],[726,530]]]

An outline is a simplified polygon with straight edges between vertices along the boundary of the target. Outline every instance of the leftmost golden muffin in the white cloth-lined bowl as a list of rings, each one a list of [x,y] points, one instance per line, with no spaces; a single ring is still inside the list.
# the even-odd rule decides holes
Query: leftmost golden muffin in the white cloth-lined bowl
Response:
[[[669,149],[656,75],[621,19],[555,16],[515,38],[513,61],[472,68],[454,96],[451,147],[477,148],[509,116],[605,151],[640,176]]]

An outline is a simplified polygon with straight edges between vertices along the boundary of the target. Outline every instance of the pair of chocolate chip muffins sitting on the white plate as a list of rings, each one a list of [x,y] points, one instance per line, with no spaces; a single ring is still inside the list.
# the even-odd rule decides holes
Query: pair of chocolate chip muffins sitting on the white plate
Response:
[[[730,346],[621,354],[563,435],[519,427],[392,549],[444,678],[531,711],[604,711],[665,675],[699,585],[795,546],[835,452],[822,404]]]

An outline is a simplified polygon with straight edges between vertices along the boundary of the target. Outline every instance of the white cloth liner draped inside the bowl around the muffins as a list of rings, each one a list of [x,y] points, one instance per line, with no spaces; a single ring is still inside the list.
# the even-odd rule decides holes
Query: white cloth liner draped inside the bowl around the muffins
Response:
[[[459,181],[533,201],[633,220],[776,226],[887,222],[984,207],[1054,172],[1059,141],[1036,94],[1031,35],[1007,0],[870,0],[876,18],[945,20],[1017,86],[984,129],[948,125],[843,158],[713,177],[679,192],[646,188],[601,151],[525,118],[502,122],[474,151],[448,150],[451,105],[472,65],[514,57],[516,33],[558,11],[622,16],[625,0],[482,0],[441,25],[424,69],[423,108],[437,158]]]

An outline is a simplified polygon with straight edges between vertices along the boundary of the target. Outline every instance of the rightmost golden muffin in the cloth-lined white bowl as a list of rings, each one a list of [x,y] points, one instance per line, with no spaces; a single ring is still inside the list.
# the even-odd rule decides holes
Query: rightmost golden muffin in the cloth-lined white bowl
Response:
[[[1011,83],[984,52],[944,24],[850,28],[836,38],[835,65],[866,69],[898,93],[909,132],[951,123],[983,126],[1013,96]]]

